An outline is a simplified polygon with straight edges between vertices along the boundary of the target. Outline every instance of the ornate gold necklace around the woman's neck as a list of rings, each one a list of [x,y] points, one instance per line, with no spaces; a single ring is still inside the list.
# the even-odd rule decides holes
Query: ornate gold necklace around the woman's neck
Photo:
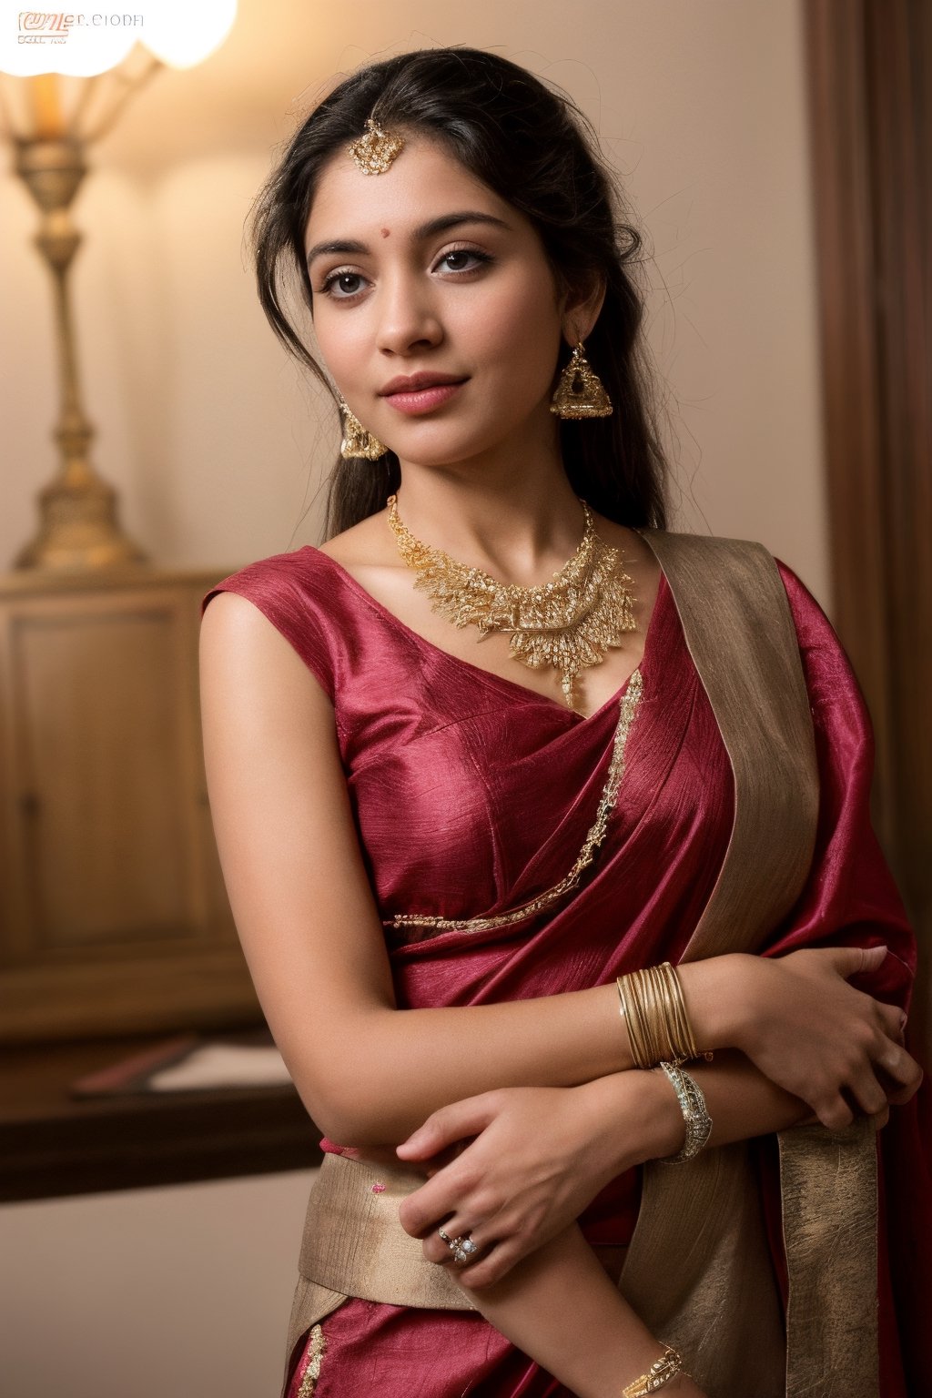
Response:
[[[397,496],[388,496],[398,552],[416,572],[415,587],[432,598],[432,610],[454,626],[478,626],[483,636],[507,633],[510,653],[528,670],[559,670],[570,709],[580,670],[598,665],[609,646],[620,646],[625,632],[637,629],[622,551],[598,537],[591,509],[585,500],[580,505],[585,530],[573,556],[548,583],[520,587],[415,538],[398,517]]]

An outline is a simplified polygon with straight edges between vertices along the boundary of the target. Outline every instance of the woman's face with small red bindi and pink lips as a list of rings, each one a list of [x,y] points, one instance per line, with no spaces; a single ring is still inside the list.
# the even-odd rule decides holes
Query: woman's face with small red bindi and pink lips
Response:
[[[335,155],[305,246],[324,362],[402,461],[553,439],[563,317],[544,246],[443,147],[409,137],[383,175]]]

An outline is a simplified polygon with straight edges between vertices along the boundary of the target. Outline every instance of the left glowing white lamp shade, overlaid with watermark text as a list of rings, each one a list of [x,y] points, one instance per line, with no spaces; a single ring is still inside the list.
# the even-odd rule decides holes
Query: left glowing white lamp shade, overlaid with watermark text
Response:
[[[18,0],[0,0],[0,73],[92,77],[122,63],[143,35],[131,25],[92,25],[89,7],[81,18],[87,22],[78,24],[78,15],[64,10],[25,10]],[[98,18],[109,20],[109,14]]]

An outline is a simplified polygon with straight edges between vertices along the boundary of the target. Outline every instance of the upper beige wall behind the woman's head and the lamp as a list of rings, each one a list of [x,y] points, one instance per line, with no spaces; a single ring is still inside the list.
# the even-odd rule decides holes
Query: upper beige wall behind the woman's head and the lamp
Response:
[[[440,14],[425,0],[245,0],[228,45],[156,78],[95,151],[74,296],[95,459],[127,526],[158,561],[208,566],[316,541],[316,516],[300,516],[334,428],[264,326],[243,221],[271,147],[330,74],[471,42],[567,88],[626,175],[655,250],[651,343],[685,517],[762,538],[824,597],[796,0],[476,0]],[[13,178],[1,193],[0,305],[17,333],[0,347],[0,566],[32,530],[54,407],[34,212]]]

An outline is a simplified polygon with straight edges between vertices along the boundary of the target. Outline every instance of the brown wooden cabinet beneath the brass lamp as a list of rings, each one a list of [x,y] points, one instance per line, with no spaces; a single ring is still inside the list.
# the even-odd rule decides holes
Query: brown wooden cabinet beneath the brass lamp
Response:
[[[260,1018],[200,744],[222,576],[0,576],[3,1042]]]

